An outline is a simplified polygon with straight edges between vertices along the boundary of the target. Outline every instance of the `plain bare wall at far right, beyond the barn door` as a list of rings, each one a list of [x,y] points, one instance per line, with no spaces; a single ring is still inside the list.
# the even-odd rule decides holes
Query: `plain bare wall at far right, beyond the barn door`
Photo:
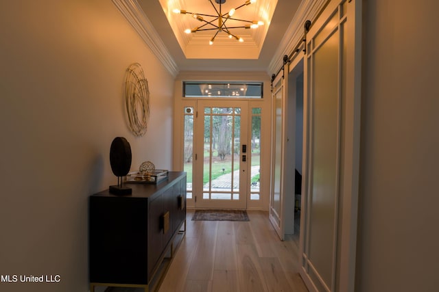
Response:
[[[356,291],[437,291],[439,2],[364,5]]]

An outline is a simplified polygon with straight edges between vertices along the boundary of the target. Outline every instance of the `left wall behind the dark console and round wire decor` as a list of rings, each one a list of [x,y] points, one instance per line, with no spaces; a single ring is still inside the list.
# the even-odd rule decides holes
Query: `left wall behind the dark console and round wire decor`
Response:
[[[123,116],[132,62],[152,98],[143,137]],[[0,282],[0,291],[88,291],[88,196],[117,182],[112,139],[130,142],[133,169],[147,160],[170,169],[173,91],[174,77],[110,0],[1,3],[0,274],[61,282]]]

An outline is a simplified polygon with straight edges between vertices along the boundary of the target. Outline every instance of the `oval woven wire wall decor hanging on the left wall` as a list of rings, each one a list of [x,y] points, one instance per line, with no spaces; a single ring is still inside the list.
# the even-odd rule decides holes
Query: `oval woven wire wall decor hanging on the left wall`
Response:
[[[141,64],[128,66],[125,86],[128,127],[134,136],[143,136],[150,119],[150,90]]]

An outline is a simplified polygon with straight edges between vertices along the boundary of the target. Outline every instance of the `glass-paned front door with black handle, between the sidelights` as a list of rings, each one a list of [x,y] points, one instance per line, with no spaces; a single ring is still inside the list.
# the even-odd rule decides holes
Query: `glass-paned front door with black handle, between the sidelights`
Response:
[[[197,111],[195,207],[246,209],[251,178],[248,101],[198,101]]]

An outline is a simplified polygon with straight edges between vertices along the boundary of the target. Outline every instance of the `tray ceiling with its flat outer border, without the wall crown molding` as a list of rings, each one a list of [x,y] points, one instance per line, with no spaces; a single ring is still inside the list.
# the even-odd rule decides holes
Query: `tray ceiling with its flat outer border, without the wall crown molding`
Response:
[[[132,1],[132,0],[130,0]],[[283,42],[285,32],[292,23],[296,12],[302,0],[257,0],[257,3],[240,8],[237,12],[252,13],[253,6],[267,7],[270,6],[271,21],[264,25],[263,36],[255,36],[255,40],[251,38],[245,39],[244,42],[237,42],[226,38],[224,45],[217,42],[213,46],[209,46],[211,35],[206,36],[204,40],[200,40],[195,44],[189,42],[188,36],[184,33],[187,29],[184,24],[184,18],[190,18],[189,15],[174,14],[174,8],[185,9],[191,12],[200,13],[205,7],[209,14],[214,12],[211,3],[208,0],[137,0],[143,14],[154,26],[158,36],[163,40],[163,44],[172,56],[178,70],[181,71],[266,71],[272,61],[279,44]],[[230,10],[230,6],[241,5],[246,0],[226,0],[224,10]],[[213,0],[215,3],[215,1]],[[207,5],[206,5],[207,4]],[[210,6],[209,6],[210,5]],[[215,3],[215,5],[217,5]],[[226,6],[227,5],[227,6]],[[234,7],[235,8],[235,7]],[[240,11],[241,10],[241,11]],[[270,14],[270,15],[271,15]],[[182,17],[183,16],[183,17]],[[172,24],[168,18],[174,19],[175,22],[183,22],[178,25]],[[250,16],[249,16],[250,17]],[[259,16],[253,16],[259,18]],[[253,18],[251,17],[251,18]],[[175,19],[178,18],[178,19]],[[250,18],[250,19],[251,19]],[[261,28],[261,27],[260,27]],[[174,33],[174,30],[177,31]],[[199,32],[195,33],[198,37]],[[260,32],[259,32],[260,34]],[[254,47],[257,53],[251,53],[250,46]],[[192,47],[191,47],[192,46]],[[189,57],[189,51],[190,57]],[[226,52],[227,51],[227,52]],[[239,53],[244,51],[244,53]],[[231,52],[231,53],[230,53]],[[220,57],[222,56],[222,57]],[[271,72],[270,72],[271,73]]]

